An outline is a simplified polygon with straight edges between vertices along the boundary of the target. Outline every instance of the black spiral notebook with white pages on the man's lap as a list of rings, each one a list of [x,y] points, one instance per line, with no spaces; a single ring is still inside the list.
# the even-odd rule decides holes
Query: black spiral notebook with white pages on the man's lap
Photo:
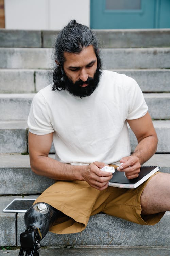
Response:
[[[141,166],[139,176],[135,179],[128,179],[124,172],[117,171],[113,173],[113,177],[109,180],[109,186],[119,188],[137,188],[144,181],[149,179],[155,172],[159,171],[160,166]]]

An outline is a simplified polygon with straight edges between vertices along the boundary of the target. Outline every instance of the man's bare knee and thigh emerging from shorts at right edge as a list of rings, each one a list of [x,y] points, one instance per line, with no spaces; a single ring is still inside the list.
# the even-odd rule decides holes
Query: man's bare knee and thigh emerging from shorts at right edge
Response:
[[[142,215],[170,211],[170,174],[152,177],[141,195]]]

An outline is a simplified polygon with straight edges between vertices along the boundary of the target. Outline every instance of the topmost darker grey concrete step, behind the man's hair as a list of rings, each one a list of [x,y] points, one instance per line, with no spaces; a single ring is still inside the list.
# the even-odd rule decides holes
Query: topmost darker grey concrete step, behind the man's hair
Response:
[[[97,29],[101,47],[169,47],[170,29]],[[0,47],[53,47],[59,31],[0,29]]]

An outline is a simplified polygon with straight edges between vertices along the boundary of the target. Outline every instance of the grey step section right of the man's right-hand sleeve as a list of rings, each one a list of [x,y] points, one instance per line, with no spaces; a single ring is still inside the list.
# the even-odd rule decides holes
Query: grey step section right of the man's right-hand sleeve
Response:
[[[144,93],[153,119],[170,119],[170,93]]]

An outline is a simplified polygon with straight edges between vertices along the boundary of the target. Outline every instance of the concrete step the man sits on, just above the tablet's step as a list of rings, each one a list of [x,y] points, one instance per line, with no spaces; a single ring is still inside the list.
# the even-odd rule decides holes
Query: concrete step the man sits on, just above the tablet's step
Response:
[[[0,195],[42,193],[54,183],[31,171],[29,155],[0,154],[0,163]],[[162,172],[170,173],[170,154],[155,154],[145,165],[158,165]]]

